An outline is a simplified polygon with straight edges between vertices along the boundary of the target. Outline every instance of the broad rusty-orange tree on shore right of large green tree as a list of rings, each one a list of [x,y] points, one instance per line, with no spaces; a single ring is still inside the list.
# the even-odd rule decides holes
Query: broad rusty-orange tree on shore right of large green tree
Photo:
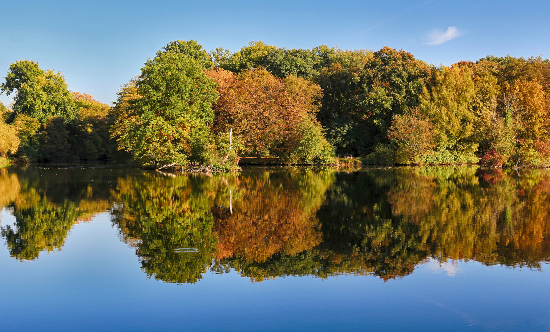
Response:
[[[214,130],[233,128],[245,155],[276,155],[292,162],[327,161],[332,148],[315,119],[321,88],[303,78],[277,78],[264,69],[238,75],[207,72],[216,81]]]

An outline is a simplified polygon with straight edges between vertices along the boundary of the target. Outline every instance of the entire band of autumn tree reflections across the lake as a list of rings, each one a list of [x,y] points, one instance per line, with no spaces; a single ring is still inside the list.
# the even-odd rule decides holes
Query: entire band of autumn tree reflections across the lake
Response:
[[[147,276],[172,283],[232,269],[253,282],[388,280],[430,257],[537,269],[550,257],[548,170],[1,168],[0,189],[16,220],[2,227],[13,257],[59,250],[75,223],[108,210]]]

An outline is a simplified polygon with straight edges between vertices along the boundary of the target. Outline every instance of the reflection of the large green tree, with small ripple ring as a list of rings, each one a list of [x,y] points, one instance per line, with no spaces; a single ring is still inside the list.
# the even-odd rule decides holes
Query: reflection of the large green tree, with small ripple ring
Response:
[[[209,177],[161,176],[151,172],[119,178],[113,190],[118,206],[114,223],[133,245],[149,277],[172,283],[195,283],[202,278],[215,254],[212,232],[212,192]],[[199,253],[174,252],[182,247]]]

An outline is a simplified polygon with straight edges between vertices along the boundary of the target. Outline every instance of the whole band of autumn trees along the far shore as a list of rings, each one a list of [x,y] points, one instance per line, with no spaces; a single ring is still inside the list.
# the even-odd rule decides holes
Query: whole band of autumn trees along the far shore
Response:
[[[384,47],[285,49],[261,41],[208,53],[173,41],[113,106],[71,92],[61,72],[20,60],[0,93],[0,157],[212,165],[550,164],[550,60],[487,56],[450,67]]]

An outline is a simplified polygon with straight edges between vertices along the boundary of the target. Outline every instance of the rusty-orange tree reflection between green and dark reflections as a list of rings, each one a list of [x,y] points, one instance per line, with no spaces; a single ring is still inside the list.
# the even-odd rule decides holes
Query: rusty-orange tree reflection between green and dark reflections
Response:
[[[238,256],[264,262],[280,252],[292,255],[318,245],[322,236],[315,212],[332,182],[331,173],[243,173],[233,196],[233,212],[216,213],[218,259]]]

